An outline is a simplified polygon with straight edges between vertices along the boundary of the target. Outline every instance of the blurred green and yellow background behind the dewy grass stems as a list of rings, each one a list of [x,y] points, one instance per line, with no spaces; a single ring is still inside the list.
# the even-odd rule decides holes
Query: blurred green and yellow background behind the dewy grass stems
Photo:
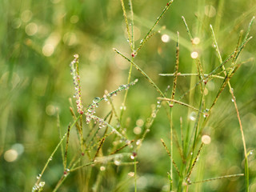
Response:
[[[127,1],[126,8],[128,12]],[[166,0],[134,0],[134,25],[136,45],[154,24],[166,6]],[[194,37],[200,38],[198,50],[206,73],[218,66],[218,58],[212,47],[210,27],[214,26],[222,58],[234,51],[240,30],[246,30],[256,11],[256,1],[174,1],[164,15],[156,34],[142,48],[134,61],[149,74],[160,87],[172,85],[172,78],[160,77],[160,73],[173,73],[175,61],[176,31],[181,38],[179,71],[190,73],[192,46],[182,23],[182,16],[190,26]],[[162,28],[163,27],[163,28]],[[157,29],[157,30],[158,30]],[[255,34],[255,24],[250,35]],[[167,34],[170,41],[162,41]],[[126,41],[126,26],[118,0],[2,0],[0,1],[0,190],[30,191],[36,175],[41,172],[47,158],[58,143],[57,110],[63,132],[73,121],[69,111],[69,98],[74,94],[69,64],[74,54],[80,55],[80,75],[84,106],[94,97],[102,97],[104,90],[115,90],[126,84],[130,64],[112,50],[113,47],[130,56]],[[254,58],[256,38],[242,52],[241,61]],[[196,71],[194,71],[196,72]],[[246,145],[254,150],[256,143],[256,77],[255,62],[246,62],[238,70],[231,85],[241,112],[246,135]],[[125,119],[130,138],[138,138],[133,130],[136,121],[146,122],[151,105],[156,103],[158,92],[133,70],[132,79],[139,82],[130,88]],[[221,81],[218,82],[218,85]],[[190,87],[190,78],[178,79],[177,95]],[[218,86],[208,88],[206,105],[213,101]],[[114,98],[120,106],[124,93]],[[198,102],[194,95],[194,104]],[[207,100],[208,99],[208,100]],[[174,126],[179,131],[179,117],[184,127],[189,124],[186,108],[177,106]],[[106,114],[104,108],[99,114]],[[165,110],[161,110],[138,154],[138,191],[165,191],[169,158],[160,138],[169,143],[170,130]],[[205,163],[202,178],[243,173],[243,149],[238,120],[226,89],[214,108],[205,129],[212,142],[202,152]],[[12,151],[10,151],[12,150]],[[16,151],[17,154],[13,152]],[[149,152],[150,151],[150,152]],[[14,159],[8,159],[8,153]],[[12,154],[14,153],[14,154]],[[17,156],[17,157],[16,157]],[[7,158],[6,158],[7,157]],[[43,180],[50,191],[62,175],[60,153],[50,163]],[[177,157],[178,159],[178,157]],[[178,161],[178,160],[177,160]],[[255,154],[250,155],[250,190],[256,191]],[[124,173],[133,171],[133,167]],[[200,173],[202,173],[200,172]],[[77,176],[70,176],[60,191],[79,191],[75,184]],[[111,175],[109,175],[109,179]],[[126,176],[120,176],[121,178]],[[107,181],[107,180],[106,180]],[[118,182],[117,182],[118,183]],[[222,179],[202,184],[204,191],[243,191],[243,178]],[[99,190],[108,191],[108,190]],[[111,191],[111,190],[110,190]],[[133,191],[133,182],[126,190]],[[190,191],[199,191],[191,186]]]

